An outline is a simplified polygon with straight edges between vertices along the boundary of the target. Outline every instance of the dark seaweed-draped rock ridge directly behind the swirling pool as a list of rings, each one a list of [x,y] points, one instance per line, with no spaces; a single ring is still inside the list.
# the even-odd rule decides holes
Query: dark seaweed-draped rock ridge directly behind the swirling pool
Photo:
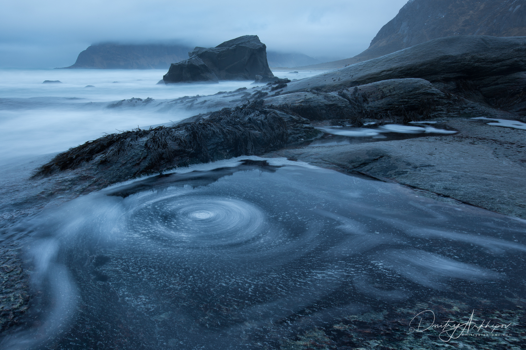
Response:
[[[262,101],[197,115],[175,126],[110,134],[60,153],[37,175],[77,169],[78,181],[103,188],[136,176],[241,155],[255,155],[311,139],[309,121]],[[93,190],[92,189],[92,190]]]

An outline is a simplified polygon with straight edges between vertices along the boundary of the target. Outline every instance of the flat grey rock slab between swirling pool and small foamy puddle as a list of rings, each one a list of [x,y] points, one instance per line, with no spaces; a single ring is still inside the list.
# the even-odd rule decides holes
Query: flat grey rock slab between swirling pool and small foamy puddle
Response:
[[[437,119],[438,120],[438,119]],[[264,157],[395,181],[505,215],[526,218],[526,131],[440,119],[449,136],[351,145],[306,146]],[[438,197],[437,197],[438,198]]]

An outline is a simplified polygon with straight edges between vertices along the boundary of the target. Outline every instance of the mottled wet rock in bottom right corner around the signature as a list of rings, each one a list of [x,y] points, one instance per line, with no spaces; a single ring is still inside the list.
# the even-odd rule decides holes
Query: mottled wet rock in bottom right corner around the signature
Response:
[[[363,313],[347,317],[342,322],[311,330],[296,335],[287,341],[286,349],[403,349],[423,350],[431,348],[472,348],[472,349],[521,349],[526,340],[526,333],[521,326],[526,320],[524,299],[514,299],[507,305],[499,305],[480,300],[477,309],[472,309],[461,300],[433,298],[429,302],[394,309],[386,307],[383,312]],[[466,322],[473,313],[476,320],[485,320],[488,324],[505,324],[510,328],[497,328],[492,336],[481,334],[458,336],[448,340],[440,331],[415,332],[413,317],[418,313],[430,310],[436,317],[436,325],[443,325],[448,320],[458,320],[457,324]],[[429,313],[429,315],[432,315]],[[429,321],[429,320],[426,320]],[[411,325],[410,325],[411,324]],[[480,322],[479,322],[480,324]],[[486,323],[484,323],[486,324]],[[425,328],[425,327],[422,327]],[[443,328],[442,328],[443,329]],[[452,332],[449,332],[452,334]],[[505,336],[508,335],[508,336]],[[458,337],[457,337],[458,336]]]

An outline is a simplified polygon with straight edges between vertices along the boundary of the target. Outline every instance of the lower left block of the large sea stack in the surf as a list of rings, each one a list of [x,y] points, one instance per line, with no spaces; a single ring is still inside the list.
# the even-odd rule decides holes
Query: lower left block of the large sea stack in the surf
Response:
[[[215,73],[197,56],[189,59],[172,63],[168,73],[163,76],[165,83],[176,82],[219,82]]]

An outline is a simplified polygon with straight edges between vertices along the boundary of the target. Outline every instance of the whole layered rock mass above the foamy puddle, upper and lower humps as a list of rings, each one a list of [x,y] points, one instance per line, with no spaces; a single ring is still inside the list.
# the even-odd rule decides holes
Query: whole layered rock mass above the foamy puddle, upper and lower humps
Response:
[[[467,114],[515,119],[526,114],[525,83],[526,37],[451,36],[290,82],[266,103],[355,125]]]

